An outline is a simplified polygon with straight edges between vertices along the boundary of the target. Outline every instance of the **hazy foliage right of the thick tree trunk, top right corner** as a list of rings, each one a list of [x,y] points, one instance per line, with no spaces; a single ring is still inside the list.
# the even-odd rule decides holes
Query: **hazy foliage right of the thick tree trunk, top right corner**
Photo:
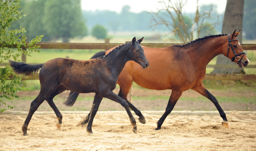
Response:
[[[244,2],[243,32],[246,39],[256,39],[256,0]]]

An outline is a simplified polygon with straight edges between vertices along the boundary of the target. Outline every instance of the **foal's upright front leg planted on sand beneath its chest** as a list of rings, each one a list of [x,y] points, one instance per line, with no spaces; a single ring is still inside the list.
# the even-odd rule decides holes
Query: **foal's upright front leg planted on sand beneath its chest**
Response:
[[[98,108],[100,106],[100,102],[103,98],[100,96],[100,94],[96,93],[95,96],[94,96],[94,100],[93,100],[93,104],[92,104],[92,109],[90,111],[89,114],[91,114],[89,117],[89,120],[88,120],[88,125],[87,125],[87,128],[86,128],[86,131],[87,133],[89,133],[90,135],[93,135],[92,133],[92,122],[93,122],[93,119],[98,111]],[[88,116],[87,116],[88,118]]]

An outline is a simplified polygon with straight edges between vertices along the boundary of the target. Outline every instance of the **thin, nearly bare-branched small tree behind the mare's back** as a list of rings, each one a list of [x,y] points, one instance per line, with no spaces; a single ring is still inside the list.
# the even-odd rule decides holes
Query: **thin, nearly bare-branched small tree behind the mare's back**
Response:
[[[202,27],[204,27],[204,20],[211,19],[212,8],[208,11],[199,12],[198,0],[197,0],[197,9],[196,14],[192,20],[187,21],[187,16],[184,15],[183,7],[186,5],[187,0],[179,0],[176,3],[172,3],[171,0],[168,2],[160,1],[163,8],[158,10],[152,18],[153,24],[151,27],[156,28],[157,25],[165,25],[170,33],[170,35],[178,36],[182,43],[187,43],[194,39],[194,31],[197,33],[199,38]],[[164,12],[164,15],[160,15],[161,12]],[[167,19],[166,19],[167,17]],[[193,23],[192,25],[190,25]],[[212,24],[213,26],[218,25],[218,23]],[[213,28],[214,29],[214,28]],[[212,30],[212,29],[211,29]],[[168,35],[167,34],[167,35]]]

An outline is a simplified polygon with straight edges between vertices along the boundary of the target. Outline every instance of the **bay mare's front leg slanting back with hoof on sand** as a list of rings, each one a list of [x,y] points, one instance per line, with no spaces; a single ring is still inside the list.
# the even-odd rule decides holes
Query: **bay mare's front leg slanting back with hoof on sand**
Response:
[[[166,110],[165,110],[164,114],[162,115],[162,117],[158,120],[158,122],[156,122],[157,128],[155,130],[161,129],[161,126],[164,123],[164,120],[172,112],[172,109],[174,108],[176,102],[180,98],[182,92],[183,92],[182,90],[172,90],[172,94],[169,98],[168,104],[166,106]]]

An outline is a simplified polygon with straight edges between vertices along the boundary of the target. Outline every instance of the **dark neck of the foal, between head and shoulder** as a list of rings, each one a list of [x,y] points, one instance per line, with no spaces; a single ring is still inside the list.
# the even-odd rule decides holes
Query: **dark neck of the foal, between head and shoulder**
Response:
[[[130,43],[125,44],[124,46],[120,46],[122,48],[115,48],[114,51],[110,51],[104,59],[107,61],[107,65],[114,71],[117,71],[118,75],[120,75],[127,61],[130,61],[128,58],[128,51],[130,48]]]

